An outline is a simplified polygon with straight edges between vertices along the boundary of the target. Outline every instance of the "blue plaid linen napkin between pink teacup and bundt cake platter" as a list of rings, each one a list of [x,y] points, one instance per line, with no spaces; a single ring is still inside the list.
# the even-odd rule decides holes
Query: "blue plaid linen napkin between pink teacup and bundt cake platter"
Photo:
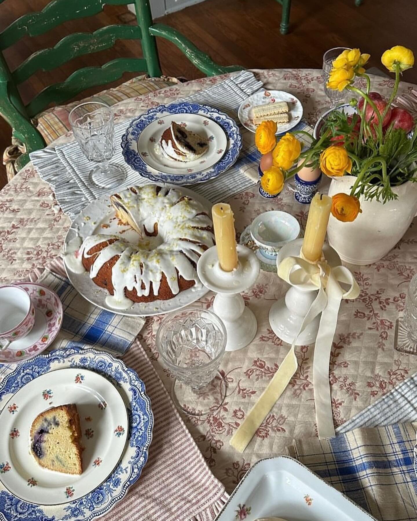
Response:
[[[91,304],[71,286],[67,278],[51,271],[45,270],[37,282],[55,291],[64,310],[61,330],[49,350],[82,343],[122,356],[145,323],[142,317],[116,315]],[[0,364],[0,379],[15,366]]]

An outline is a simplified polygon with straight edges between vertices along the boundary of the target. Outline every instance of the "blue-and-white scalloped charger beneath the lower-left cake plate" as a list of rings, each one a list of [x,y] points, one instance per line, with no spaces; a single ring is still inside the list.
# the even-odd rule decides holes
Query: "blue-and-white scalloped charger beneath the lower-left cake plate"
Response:
[[[71,488],[75,489],[75,486],[69,485],[69,497],[65,498],[64,495],[62,503],[39,505],[22,500],[6,489],[3,485],[4,475],[11,472],[16,460],[11,458],[12,461],[0,461],[0,519],[6,521],[18,521],[20,519],[24,519],[24,521],[89,521],[102,516],[125,496],[129,487],[141,475],[148,460],[148,449],[152,440],[153,414],[150,399],[145,393],[144,383],[133,369],[127,368],[123,362],[107,353],[94,349],[82,349],[76,345],[72,347],[69,344],[65,349],[39,355],[19,364],[0,383],[0,407],[6,407],[6,414],[17,418],[21,411],[19,411],[19,404],[11,400],[15,393],[35,378],[65,368],[75,369],[77,374],[81,375],[80,378],[84,376],[84,379],[89,371],[94,371],[95,374],[111,382],[120,394],[127,407],[129,417],[129,427],[127,430],[125,429],[125,433],[120,436],[115,434],[118,441],[126,438],[126,446],[120,462],[107,477],[103,478],[104,480],[99,486],[89,492],[87,489],[81,498],[73,499],[75,493],[72,497]],[[83,371],[85,371],[85,374]],[[80,383],[81,385],[82,383]],[[46,391],[49,390],[46,389]],[[49,400],[51,401],[51,399]],[[103,404],[103,407],[106,407],[106,405]],[[115,427],[116,430],[117,428],[118,426]],[[13,432],[13,429],[10,432]],[[12,438],[10,432],[4,431],[2,428],[0,436]],[[122,432],[121,429],[118,432]],[[93,441],[93,439],[89,441]],[[32,457],[29,454],[29,443],[27,457]],[[93,465],[94,462],[91,462],[91,464]],[[55,479],[57,474],[50,472],[53,476],[52,479]],[[51,486],[53,485],[54,482],[51,480]],[[36,488],[34,481],[32,481],[32,485],[28,481],[27,486]]]

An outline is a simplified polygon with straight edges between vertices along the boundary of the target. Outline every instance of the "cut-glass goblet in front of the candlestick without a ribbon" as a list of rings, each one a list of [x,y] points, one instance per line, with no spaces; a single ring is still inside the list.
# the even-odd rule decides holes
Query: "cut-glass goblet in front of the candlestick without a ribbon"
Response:
[[[218,368],[227,333],[220,318],[201,308],[167,315],[156,332],[158,352],[176,378],[172,398],[186,414],[215,411],[226,396],[226,381]]]

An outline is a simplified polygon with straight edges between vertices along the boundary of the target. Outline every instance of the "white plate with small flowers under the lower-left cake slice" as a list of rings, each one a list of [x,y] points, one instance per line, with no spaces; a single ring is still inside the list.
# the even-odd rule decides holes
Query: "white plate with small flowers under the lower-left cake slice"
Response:
[[[35,417],[68,403],[77,405],[80,416],[81,475],[43,468],[30,451]],[[117,389],[82,368],[59,369],[29,381],[3,408],[0,425],[0,480],[16,497],[43,505],[69,503],[98,487],[117,466],[129,431],[126,406]]]

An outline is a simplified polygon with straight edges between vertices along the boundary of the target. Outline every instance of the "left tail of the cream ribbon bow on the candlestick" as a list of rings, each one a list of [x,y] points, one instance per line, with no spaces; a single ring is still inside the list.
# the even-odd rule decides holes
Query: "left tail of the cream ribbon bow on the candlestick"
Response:
[[[261,394],[259,400],[251,408],[247,417],[243,420],[243,423],[239,426],[235,434],[230,438],[230,445],[237,451],[243,452],[248,443],[253,438],[255,432],[261,426],[263,420],[271,411],[280,395],[284,392],[291,378],[297,370],[298,362],[295,353],[295,345],[299,334],[304,331],[305,327],[323,311],[327,303],[327,297],[323,290],[320,288],[316,298],[311,304],[309,311],[305,315],[300,330],[292,342],[291,349],[287,353],[283,362],[279,366],[272,380],[268,383],[268,386]]]

